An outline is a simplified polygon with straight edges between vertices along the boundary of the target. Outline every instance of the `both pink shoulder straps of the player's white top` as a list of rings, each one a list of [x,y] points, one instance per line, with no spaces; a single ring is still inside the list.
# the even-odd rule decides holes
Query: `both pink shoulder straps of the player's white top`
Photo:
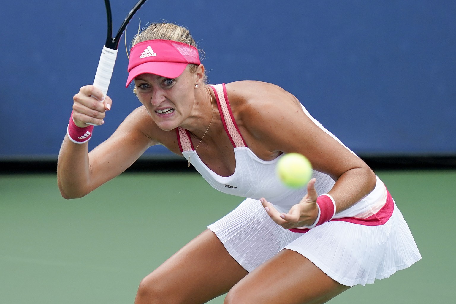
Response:
[[[231,107],[229,105],[227,90],[225,84],[216,84],[210,86],[215,93],[215,98],[217,99],[218,111],[222,117],[223,127],[225,128],[228,138],[233,144],[233,147],[247,147],[244,139],[242,138],[241,133],[239,132],[238,125],[233,117],[233,112],[231,112]],[[179,144],[179,149],[181,152],[193,150],[192,140],[190,140],[190,134],[184,128],[177,127],[177,143]]]

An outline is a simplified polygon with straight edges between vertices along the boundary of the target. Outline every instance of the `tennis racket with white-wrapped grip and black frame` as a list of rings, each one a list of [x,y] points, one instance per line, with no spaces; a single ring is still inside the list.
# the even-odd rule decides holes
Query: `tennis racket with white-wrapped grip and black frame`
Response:
[[[125,17],[124,22],[122,22],[117,35],[113,37],[111,5],[109,4],[109,0],[104,0],[104,4],[106,5],[106,15],[108,17],[108,33],[106,43],[103,46],[103,51],[101,52],[100,61],[98,62],[95,79],[93,80],[93,86],[100,89],[104,96],[108,93],[109,82],[111,82],[111,76],[114,70],[115,60],[117,58],[117,47],[119,46],[120,36],[122,36],[131,18],[140,9],[141,5],[145,3],[145,1],[147,0],[139,0],[138,3],[133,6]]]

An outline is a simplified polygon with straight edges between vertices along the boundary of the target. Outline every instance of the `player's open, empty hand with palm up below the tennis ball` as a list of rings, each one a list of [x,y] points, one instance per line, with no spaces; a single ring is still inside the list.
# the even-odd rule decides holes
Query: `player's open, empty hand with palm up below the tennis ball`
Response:
[[[316,204],[318,194],[315,189],[315,181],[313,178],[307,183],[306,196],[299,204],[292,206],[288,213],[280,213],[265,198],[260,199],[261,204],[272,220],[285,229],[311,226],[318,216],[318,206]]]

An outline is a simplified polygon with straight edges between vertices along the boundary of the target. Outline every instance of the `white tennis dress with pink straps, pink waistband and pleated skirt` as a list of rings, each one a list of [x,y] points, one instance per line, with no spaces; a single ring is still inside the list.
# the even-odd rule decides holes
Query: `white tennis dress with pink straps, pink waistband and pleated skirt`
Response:
[[[286,248],[299,252],[337,282],[354,286],[387,278],[420,260],[421,255],[407,223],[377,177],[375,189],[347,210],[338,212],[330,222],[312,229],[287,230],[277,225],[264,211],[259,199],[264,197],[281,212],[288,212],[306,195],[306,186],[286,188],[275,173],[277,161],[259,159],[247,147],[233,119],[224,84],[211,86],[220,115],[234,147],[236,169],[223,177],[210,170],[198,157],[188,131],[177,129],[182,155],[215,189],[247,197],[236,209],[208,226],[233,258],[247,271]],[[303,111],[327,134],[338,140]],[[343,145],[343,144],[342,144]],[[348,148],[347,148],[348,149]],[[331,190],[335,181],[313,170],[316,191]]]

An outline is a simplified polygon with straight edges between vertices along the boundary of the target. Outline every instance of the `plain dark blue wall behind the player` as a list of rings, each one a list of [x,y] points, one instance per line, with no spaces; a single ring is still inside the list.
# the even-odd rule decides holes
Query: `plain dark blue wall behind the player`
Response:
[[[112,0],[114,27],[135,0]],[[0,160],[55,158],[72,97],[93,82],[104,44],[101,0],[3,2]],[[211,83],[260,80],[300,99],[359,155],[456,155],[456,2],[452,0],[154,1],[127,29],[186,26],[206,53]],[[113,108],[90,148],[140,105],[125,47]],[[170,157],[161,147],[150,157]]]

